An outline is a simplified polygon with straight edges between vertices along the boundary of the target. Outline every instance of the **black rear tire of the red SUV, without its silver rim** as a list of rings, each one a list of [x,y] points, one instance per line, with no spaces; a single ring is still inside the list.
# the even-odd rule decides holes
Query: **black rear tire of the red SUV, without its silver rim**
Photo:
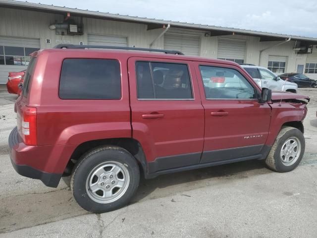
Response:
[[[108,161],[124,165],[129,173],[129,182],[125,192],[118,200],[110,203],[99,203],[87,193],[86,180],[97,166]],[[126,205],[135,194],[139,181],[140,171],[135,158],[123,148],[104,146],[95,148],[80,158],[73,169],[70,187],[75,200],[82,208],[93,213],[103,213]]]

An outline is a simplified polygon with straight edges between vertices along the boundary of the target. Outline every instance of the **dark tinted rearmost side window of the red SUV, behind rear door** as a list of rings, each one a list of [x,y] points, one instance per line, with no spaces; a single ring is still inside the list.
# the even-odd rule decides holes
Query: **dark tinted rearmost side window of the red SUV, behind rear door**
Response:
[[[61,99],[120,99],[121,77],[117,60],[66,59],[63,61]]]

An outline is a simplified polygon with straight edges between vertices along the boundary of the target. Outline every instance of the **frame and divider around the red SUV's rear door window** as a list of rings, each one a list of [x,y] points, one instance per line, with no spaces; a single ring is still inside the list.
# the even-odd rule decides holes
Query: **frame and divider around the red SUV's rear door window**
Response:
[[[187,71],[189,75],[189,81],[190,81],[190,86],[191,86],[191,92],[192,92],[192,97],[193,98],[139,98],[138,97],[138,80],[137,80],[137,70],[136,70],[136,63],[137,62],[147,62],[150,65],[150,71],[151,71],[151,78],[152,78],[152,85],[154,88],[154,81],[153,81],[153,70],[152,70],[152,63],[173,63],[173,64],[183,64],[187,66]],[[170,61],[149,61],[149,60],[135,60],[134,61],[134,69],[135,69],[135,82],[136,82],[136,92],[137,92],[137,100],[138,101],[195,101],[195,94],[194,94],[194,89],[193,89],[193,81],[191,77],[191,71],[189,68],[188,63],[185,62],[170,62]],[[153,90],[153,94],[155,96],[155,90]]]

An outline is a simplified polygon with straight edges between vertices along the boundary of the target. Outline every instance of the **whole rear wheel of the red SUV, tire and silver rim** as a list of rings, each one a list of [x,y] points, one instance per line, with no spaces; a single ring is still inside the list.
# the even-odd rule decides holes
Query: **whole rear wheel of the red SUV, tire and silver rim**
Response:
[[[127,204],[139,180],[140,171],[134,157],[123,148],[105,146],[93,149],[78,161],[70,184],[82,208],[103,213]]]

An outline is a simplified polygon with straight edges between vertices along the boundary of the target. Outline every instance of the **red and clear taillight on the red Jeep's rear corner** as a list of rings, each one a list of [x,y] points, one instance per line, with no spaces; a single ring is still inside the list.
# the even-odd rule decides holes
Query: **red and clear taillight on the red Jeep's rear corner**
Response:
[[[37,145],[36,114],[36,108],[23,108],[21,117],[21,136],[26,145]]]

